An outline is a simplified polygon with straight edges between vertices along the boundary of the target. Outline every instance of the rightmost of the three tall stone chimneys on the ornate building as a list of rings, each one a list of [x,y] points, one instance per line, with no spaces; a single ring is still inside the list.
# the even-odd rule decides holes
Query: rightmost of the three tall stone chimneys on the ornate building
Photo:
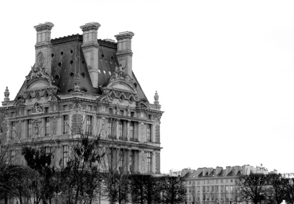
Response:
[[[124,68],[124,72],[132,76],[132,38],[135,34],[133,32],[121,32],[114,37],[118,41],[117,58],[119,65]]]

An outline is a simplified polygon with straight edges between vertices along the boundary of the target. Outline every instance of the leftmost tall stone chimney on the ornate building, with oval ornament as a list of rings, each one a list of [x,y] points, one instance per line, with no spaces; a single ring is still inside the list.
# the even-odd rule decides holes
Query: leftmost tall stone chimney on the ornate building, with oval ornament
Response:
[[[50,22],[34,26],[37,31],[35,68],[45,68],[49,75],[51,75],[51,29],[53,26],[54,24]]]

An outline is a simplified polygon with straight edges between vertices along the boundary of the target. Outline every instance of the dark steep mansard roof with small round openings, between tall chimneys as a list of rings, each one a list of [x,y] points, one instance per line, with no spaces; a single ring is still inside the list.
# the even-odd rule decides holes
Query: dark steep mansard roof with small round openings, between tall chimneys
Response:
[[[102,94],[102,90],[94,88],[86,64],[84,53],[82,51],[83,36],[80,34],[67,37],[51,39],[52,58],[51,58],[51,77],[54,85],[58,87],[58,93],[67,93],[74,88],[75,78],[78,76],[80,80],[81,90],[87,93]],[[118,65],[117,60],[117,43],[109,40],[98,39],[98,67],[101,73],[98,73],[98,87],[107,86],[110,82],[112,73],[116,71]],[[35,65],[32,69],[35,68]],[[31,74],[31,70],[29,75]],[[130,76],[132,84],[137,89],[138,100],[147,97],[142,90],[135,74],[132,72]],[[18,92],[15,100],[19,95],[25,95],[26,82]],[[148,102],[148,100],[147,100]]]

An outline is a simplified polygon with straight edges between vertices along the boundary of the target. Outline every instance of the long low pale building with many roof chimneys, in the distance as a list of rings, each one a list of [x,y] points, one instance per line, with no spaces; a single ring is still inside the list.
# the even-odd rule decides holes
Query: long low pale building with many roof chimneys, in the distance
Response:
[[[240,175],[250,173],[277,174],[264,167],[250,165],[198,168],[196,171],[182,170],[183,182],[188,204],[237,204],[237,186],[235,180]],[[238,202],[239,203],[239,202]]]

